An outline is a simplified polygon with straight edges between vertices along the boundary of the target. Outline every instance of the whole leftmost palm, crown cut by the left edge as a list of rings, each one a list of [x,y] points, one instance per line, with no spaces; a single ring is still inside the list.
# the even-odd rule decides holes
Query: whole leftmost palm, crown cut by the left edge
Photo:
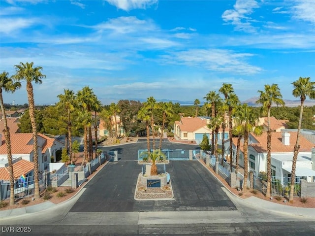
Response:
[[[6,115],[4,110],[4,103],[2,98],[3,90],[5,92],[15,92],[16,89],[21,88],[21,83],[15,82],[13,83],[12,78],[8,77],[8,73],[3,71],[0,74],[0,105],[1,105],[1,112],[2,112],[2,120],[4,122],[4,137],[5,137],[5,144],[6,144],[6,151],[7,151],[7,158],[8,158],[8,170],[10,173],[10,205],[14,205],[14,174],[13,174],[13,162],[12,162],[12,151],[11,151],[11,139],[10,139],[10,130],[7,126]]]

